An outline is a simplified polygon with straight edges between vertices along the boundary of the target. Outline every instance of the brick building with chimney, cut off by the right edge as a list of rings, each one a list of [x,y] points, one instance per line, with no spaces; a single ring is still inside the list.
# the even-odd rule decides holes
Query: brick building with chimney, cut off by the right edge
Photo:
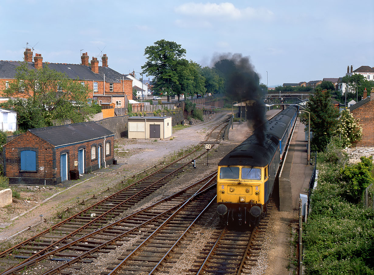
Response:
[[[370,97],[367,96],[365,88],[361,101],[350,106],[348,109],[354,118],[360,119],[362,124],[362,140],[356,146],[374,146],[374,89],[371,88]]]

